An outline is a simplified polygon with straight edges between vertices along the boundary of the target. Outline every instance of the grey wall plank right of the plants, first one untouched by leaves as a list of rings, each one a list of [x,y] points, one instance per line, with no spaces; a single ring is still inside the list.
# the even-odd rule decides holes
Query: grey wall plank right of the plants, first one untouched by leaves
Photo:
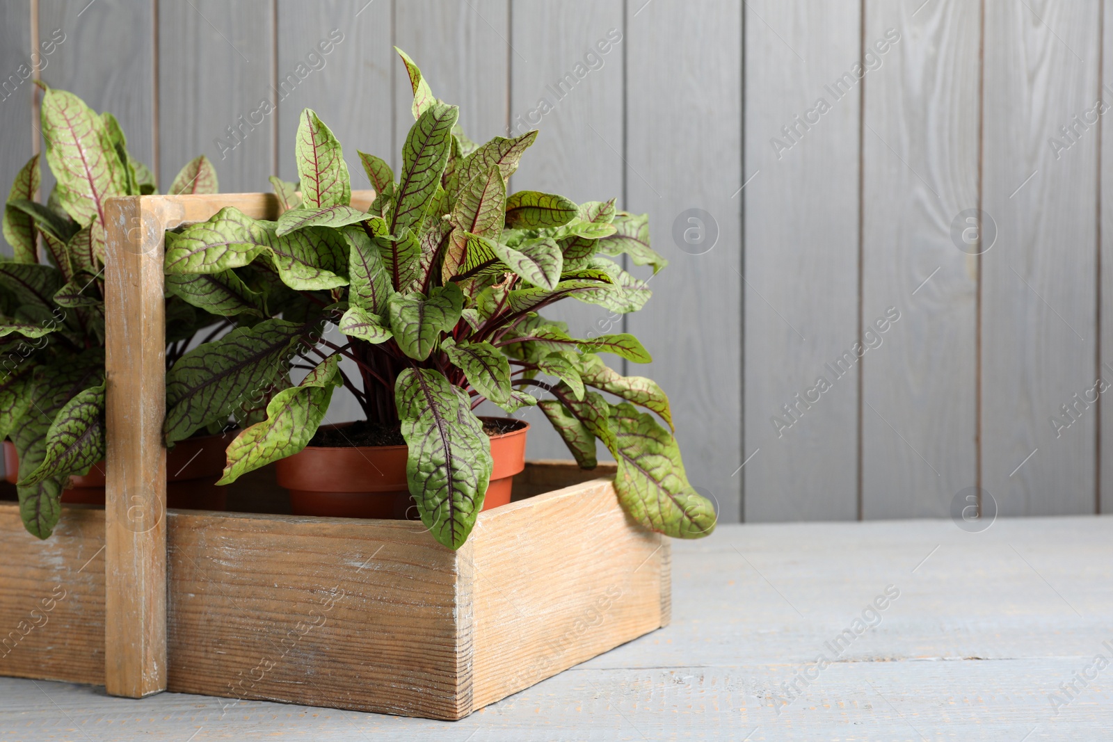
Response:
[[[858,62],[859,37],[856,0],[748,3],[746,521],[858,514],[859,364],[827,364],[858,340],[861,86],[828,86]],[[809,395],[820,377],[830,388]]]

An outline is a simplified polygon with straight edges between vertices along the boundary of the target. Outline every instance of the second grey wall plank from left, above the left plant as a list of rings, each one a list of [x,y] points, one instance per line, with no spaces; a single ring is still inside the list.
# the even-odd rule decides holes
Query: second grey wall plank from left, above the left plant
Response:
[[[39,1],[39,40],[60,29],[66,41],[49,57],[42,80],[110,111],[128,151],[155,166],[155,4],[152,0],[93,3]],[[43,167],[42,198],[55,179]]]

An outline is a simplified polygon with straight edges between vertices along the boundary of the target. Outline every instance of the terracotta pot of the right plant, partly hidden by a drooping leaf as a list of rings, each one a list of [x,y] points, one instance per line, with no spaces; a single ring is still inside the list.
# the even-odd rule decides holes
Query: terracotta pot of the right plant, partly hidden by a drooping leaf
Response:
[[[525,468],[529,423],[509,417],[480,419],[522,427],[491,437],[494,469],[483,497],[489,511],[510,502],[514,475]],[[278,461],[278,486],[289,489],[294,515],[416,520],[406,482],[406,446],[306,446]]]

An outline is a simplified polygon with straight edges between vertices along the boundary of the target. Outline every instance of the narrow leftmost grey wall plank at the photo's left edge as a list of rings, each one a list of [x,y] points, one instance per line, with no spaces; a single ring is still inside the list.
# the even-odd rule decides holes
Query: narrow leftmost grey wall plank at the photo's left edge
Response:
[[[35,154],[30,9],[30,0],[0,3],[0,131],[4,132],[0,137],[0,197],[3,198],[8,198],[16,174]],[[47,66],[47,71],[51,57],[43,57],[40,62]],[[0,243],[0,251],[10,256],[11,246]]]

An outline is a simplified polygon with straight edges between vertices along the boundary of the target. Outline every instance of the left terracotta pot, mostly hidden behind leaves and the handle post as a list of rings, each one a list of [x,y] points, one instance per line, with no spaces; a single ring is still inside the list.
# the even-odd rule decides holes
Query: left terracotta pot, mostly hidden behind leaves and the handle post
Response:
[[[185,509],[224,509],[226,491],[216,486],[224,471],[224,449],[235,432],[179,441],[166,454],[166,504]],[[19,455],[11,441],[3,442],[4,479],[19,481]],[[67,505],[105,504],[105,462],[97,462],[85,476],[71,476],[62,491]]]

